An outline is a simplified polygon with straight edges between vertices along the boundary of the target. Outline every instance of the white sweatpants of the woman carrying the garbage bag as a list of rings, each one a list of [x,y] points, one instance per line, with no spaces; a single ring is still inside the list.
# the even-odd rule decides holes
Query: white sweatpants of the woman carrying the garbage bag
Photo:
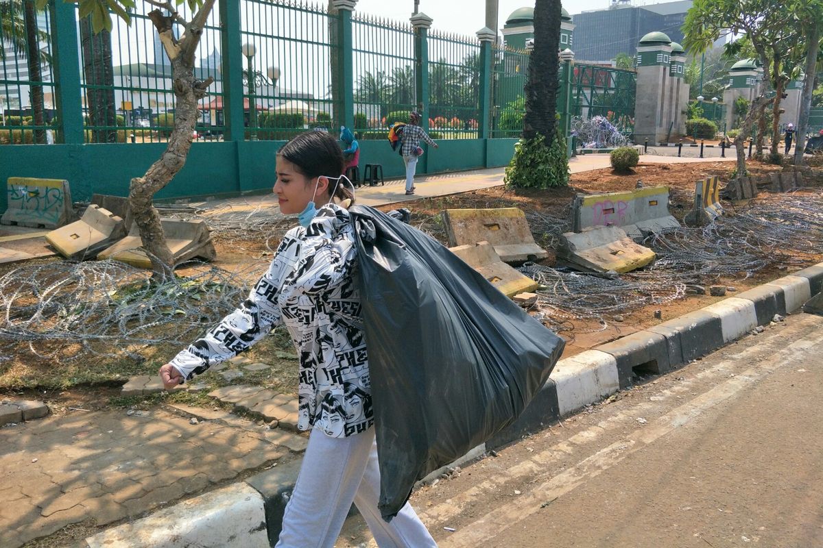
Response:
[[[312,430],[276,548],[333,548],[352,501],[380,548],[437,548],[411,504],[386,523],[379,495],[374,428],[347,438]]]

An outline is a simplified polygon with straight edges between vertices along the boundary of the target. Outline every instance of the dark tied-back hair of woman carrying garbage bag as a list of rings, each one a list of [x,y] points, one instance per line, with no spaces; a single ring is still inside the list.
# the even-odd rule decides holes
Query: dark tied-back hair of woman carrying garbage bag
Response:
[[[309,179],[314,177],[340,177],[343,173],[343,151],[337,140],[325,131],[304,131],[293,137],[277,152],[282,159],[295,165],[295,168]],[[329,191],[335,182],[329,181]],[[334,197],[338,200],[351,200],[355,196],[343,179],[339,180]]]

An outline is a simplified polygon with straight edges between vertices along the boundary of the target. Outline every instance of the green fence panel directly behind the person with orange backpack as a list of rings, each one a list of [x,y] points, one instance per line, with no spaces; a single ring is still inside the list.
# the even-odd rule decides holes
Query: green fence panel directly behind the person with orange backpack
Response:
[[[354,125],[361,139],[384,139],[386,127],[417,108],[412,25],[356,15],[351,19]]]

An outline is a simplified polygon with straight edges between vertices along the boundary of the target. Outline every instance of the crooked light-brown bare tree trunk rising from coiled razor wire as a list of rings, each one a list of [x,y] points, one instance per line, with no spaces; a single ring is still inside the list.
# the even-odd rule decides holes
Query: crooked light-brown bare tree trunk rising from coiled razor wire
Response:
[[[160,214],[151,204],[151,199],[183,168],[192,146],[192,131],[198,120],[198,100],[206,96],[206,90],[213,81],[212,77],[207,81],[194,79],[194,53],[215,1],[203,2],[180,41],[172,33],[174,15],[164,16],[160,10],[149,13],[165,52],[171,59],[172,88],[176,99],[174,130],[160,159],[151,164],[145,175],[132,179],[128,205],[140,230],[142,246],[151,260],[156,279],[169,279],[174,274],[174,256],[165,241]]]

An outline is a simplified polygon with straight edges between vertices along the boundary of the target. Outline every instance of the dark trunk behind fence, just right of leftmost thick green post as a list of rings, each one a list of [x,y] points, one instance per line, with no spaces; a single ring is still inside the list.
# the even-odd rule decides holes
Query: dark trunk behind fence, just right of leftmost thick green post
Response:
[[[83,74],[86,76],[86,102],[91,127],[114,127],[117,117],[114,108],[114,66],[111,59],[111,33],[91,30],[91,16],[80,20],[80,40],[83,48]],[[105,87],[91,87],[105,86]],[[92,143],[116,143],[116,129],[91,131]]]

